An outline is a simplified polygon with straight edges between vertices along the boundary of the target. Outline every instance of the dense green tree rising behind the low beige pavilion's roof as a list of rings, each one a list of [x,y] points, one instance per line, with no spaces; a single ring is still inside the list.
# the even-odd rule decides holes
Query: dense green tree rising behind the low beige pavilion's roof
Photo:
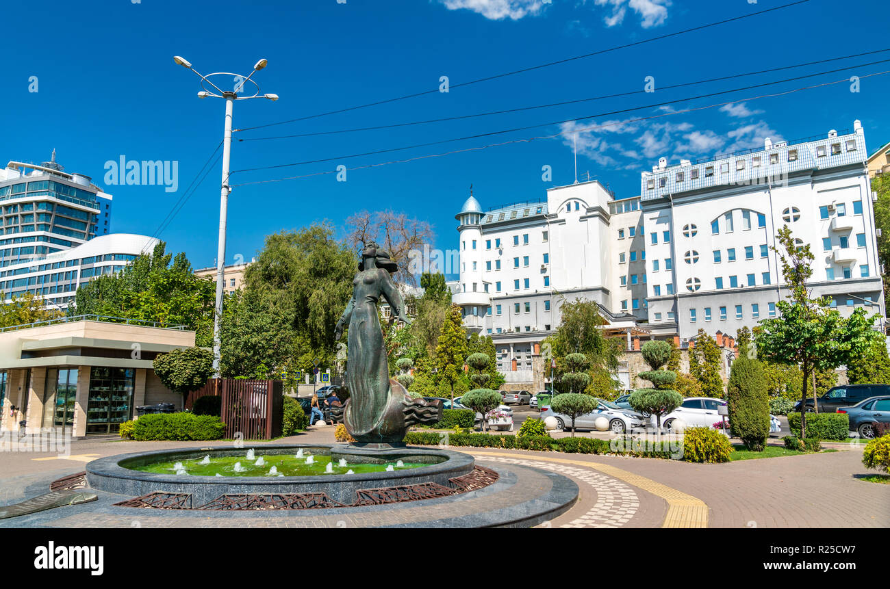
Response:
[[[103,274],[77,289],[68,315],[105,315],[122,319],[186,325],[196,332],[199,346],[213,343],[216,286],[195,276],[185,254],[166,254],[158,243],[124,270]]]

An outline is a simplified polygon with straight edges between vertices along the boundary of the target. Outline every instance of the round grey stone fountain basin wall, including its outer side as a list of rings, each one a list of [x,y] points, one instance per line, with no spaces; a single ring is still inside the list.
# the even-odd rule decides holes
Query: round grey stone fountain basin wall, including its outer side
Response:
[[[206,504],[223,495],[326,493],[342,504],[352,504],[356,491],[435,482],[449,486],[449,479],[473,471],[473,456],[443,448],[352,448],[346,444],[262,445],[254,447],[255,456],[293,456],[302,448],[313,456],[329,456],[338,464],[425,464],[392,472],[342,472],[314,476],[199,476],[171,472],[134,470],[150,464],[198,461],[209,455],[246,456],[248,448],[179,448],[138,452],[99,458],[86,465],[90,488],[125,496],[143,496],[154,491],[189,493],[193,505]],[[247,459],[245,458],[245,463]],[[323,466],[323,465],[322,465]]]

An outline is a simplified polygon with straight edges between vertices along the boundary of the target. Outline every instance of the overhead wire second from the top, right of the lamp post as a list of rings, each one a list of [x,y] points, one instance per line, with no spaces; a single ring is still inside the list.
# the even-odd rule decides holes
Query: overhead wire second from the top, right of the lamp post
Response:
[[[875,53],[884,53],[884,52],[888,52],[888,51],[890,51],[890,48],[878,49],[876,51],[870,51],[870,52],[854,53],[852,55],[845,55],[843,57],[833,57],[833,58],[830,58],[827,60],[807,61],[806,63],[798,63],[798,64],[791,65],[791,66],[782,66],[781,68],[761,69],[759,71],[752,71],[752,72],[747,72],[744,74],[733,74],[731,76],[712,77],[707,80],[699,80],[696,82],[684,82],[683,84],[659,86],[659,91],[660,90],[671,90],[674,88],[683,88],[685,86],[692,86],[692,85],[709,84],[711,82],[720,82],[723,80],[734,79],[737,77],[748,77],[748,76],[756,76],[759,74],[768,74],[768,73],[772,73],[772,72],[776,72],[776,71],[782,71],[785,69],[805,68],[807,66],[818,65],[820,63],[828,63],[830,61],[849,60],[849,59],[853,59],[854,57],[862,57],[863,55],[874,55]],[[860,67],[860,66],[850,66],[850,68],[855,68],[855,67]],[[840,71],[840,69],[832,70],[832,72],[834,72],[834,71]],[[491,110],[489,112],[480,112],[480,113],[474,113],[474,114],[470,114],[470,115],[458,115],[455,117],[432,118],[432,119],[426,119],[426,120],[422,120],[422,121],[410,121],[408,123],[392,123],[390,125],[374,125],[374,126],[366,126],[366,127],[355,127],[355,128],[350,128],[350,129],[338,129],[336,131],[318,131],[318,132],[314,132],[314,133],[295,133],[295,134],[290,134],[290,135],[276,135],[276,136],[271,136],[271,137],[245,137],[243,139],[239,138],[238,141],[271,141],[271,140],[278,140],[278,139],[295,139],[295,138],[299,138],[299,137],[318,137],[320,135],[336,135],[339,133],[357,133],[360,131],[378,131],[378,130],[382,130],[382,129],[394,129],[394,128],[398,128],[398,127],[412,126],[412,125],[429,125],[431,123],[444,123],[447,121],[464,120],[467,118],[490,117],[491,115],[504,115],[504,114],[514,113],[514,112],[523,112],[526,110],[547,109],[547,108],[551,108],[551,107],[566,106],[569,104],[578,104],[579,102],[601,101],[601,100],[605,100],[605,99],[609,99],[609,98],[633,96],[635,94],[643,94],[643,93],[646,93],[646,91],[645,90],[634,90],[634,91],[630,91],[630,92],[623,92],[623,93],[616,93],[616,94],[605,94],[603,96],[594,96],[592,98],[581,98],[581,99],[574,100],[574,101],[551,102],[549,104],[538,104],[535,106],[520,107],[520,108],[516,108],[516,109]]]

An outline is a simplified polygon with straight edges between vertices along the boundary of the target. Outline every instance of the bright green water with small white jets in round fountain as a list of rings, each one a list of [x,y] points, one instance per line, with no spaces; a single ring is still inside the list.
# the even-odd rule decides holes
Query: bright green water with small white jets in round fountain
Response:
[[[262,457],[263,465],[257,466],[256,461]],[[346,463],[340,466],[339,461],[331,463],[330,456],[313,455],[312,464],[306,464],[307,454],[301,458],[294,455],[271,455],[263,456],[256,454],[255,459],[248,460],[245,456],[211,456],[209,464],[200,464],[205,460],[204,456],[189,460],[171,460],[169,462],[159,462],[153,464],[142,464],[141,466],[132,466],[134,471],[154,472],[157,474],[176,474],[176,464],[182,464],[182,469],[187,474],[193,476],[214,477],[217,474],[223,477],[277,477],[282,474],[286,477],[312,477],[326,474],[342,474],[347,475],[350,470],[353,473],[361,472],[385,472],[386,467],[392,464],[392,470],[404,471],[411,468],[419,468],[421,466],[429,466],[433,463],[404,463],[399,466],[397,463],[386,464],[368,464],[368,463]],[[243,472],[235,472],[235,464],[240,463]],[[332,472],[327,472],[328,464],[332,464]],[[275,471],[272,471],[272,467]],[[270,473],[272,472],[272,473]]]

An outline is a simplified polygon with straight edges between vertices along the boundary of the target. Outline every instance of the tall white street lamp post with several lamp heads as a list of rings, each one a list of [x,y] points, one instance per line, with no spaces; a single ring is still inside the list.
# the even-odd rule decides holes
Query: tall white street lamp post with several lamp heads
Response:
[[[270,101],[277,101],[278,94],[263,94],[260,95],[260,86],[256,84],[252,79],[250,79],[256,72],[266,67],[268,61],[260,60],[256,62],[254,66],[254,70],[250,72],[247,77],[241,76],[239,74],[232,74],[230,72],[214,72],[213,74],[207,74],[206,76],[198,73],[198,70],[191,67],[191,63],[187,61],[185,58],[180,57],[179,55],[175,55],[173,61],[176,64],[181,65],[183,68],[190,69],[195,72],[198,77],[201,78],[201,92],[198,93],[198,98],[206,98],[207,96],[212,96],[214,98],[223,98],[225,99],[225,126],[223,132],[223,181],[220,188],[220,231],[219,231],[219,243],[216,248],[216,303],[214,305],[214,377],[220,377],[220,322],[223,318],[223,286],[225,286],[225,230],[226,230],[226,217],[227,217],[227,209],[229,205],[229,193],[231,192],[231,188],[229,188],[229,164],[231,161],[231,114],[232,114],[232,106],[235,101],[245,101],[251,98],[266,98]],[[231,76],[235,82],[235,88],[232,91],[221,90],[219,86],[215,85],[210,78],[214,76]],[[239,96],[239,92],[244,91],[244,86],[250,82],[255,85],[256,91],[253,95],[250,96]],[[217,93],[211,92],[207,89],[206,85],[211,85]]]

